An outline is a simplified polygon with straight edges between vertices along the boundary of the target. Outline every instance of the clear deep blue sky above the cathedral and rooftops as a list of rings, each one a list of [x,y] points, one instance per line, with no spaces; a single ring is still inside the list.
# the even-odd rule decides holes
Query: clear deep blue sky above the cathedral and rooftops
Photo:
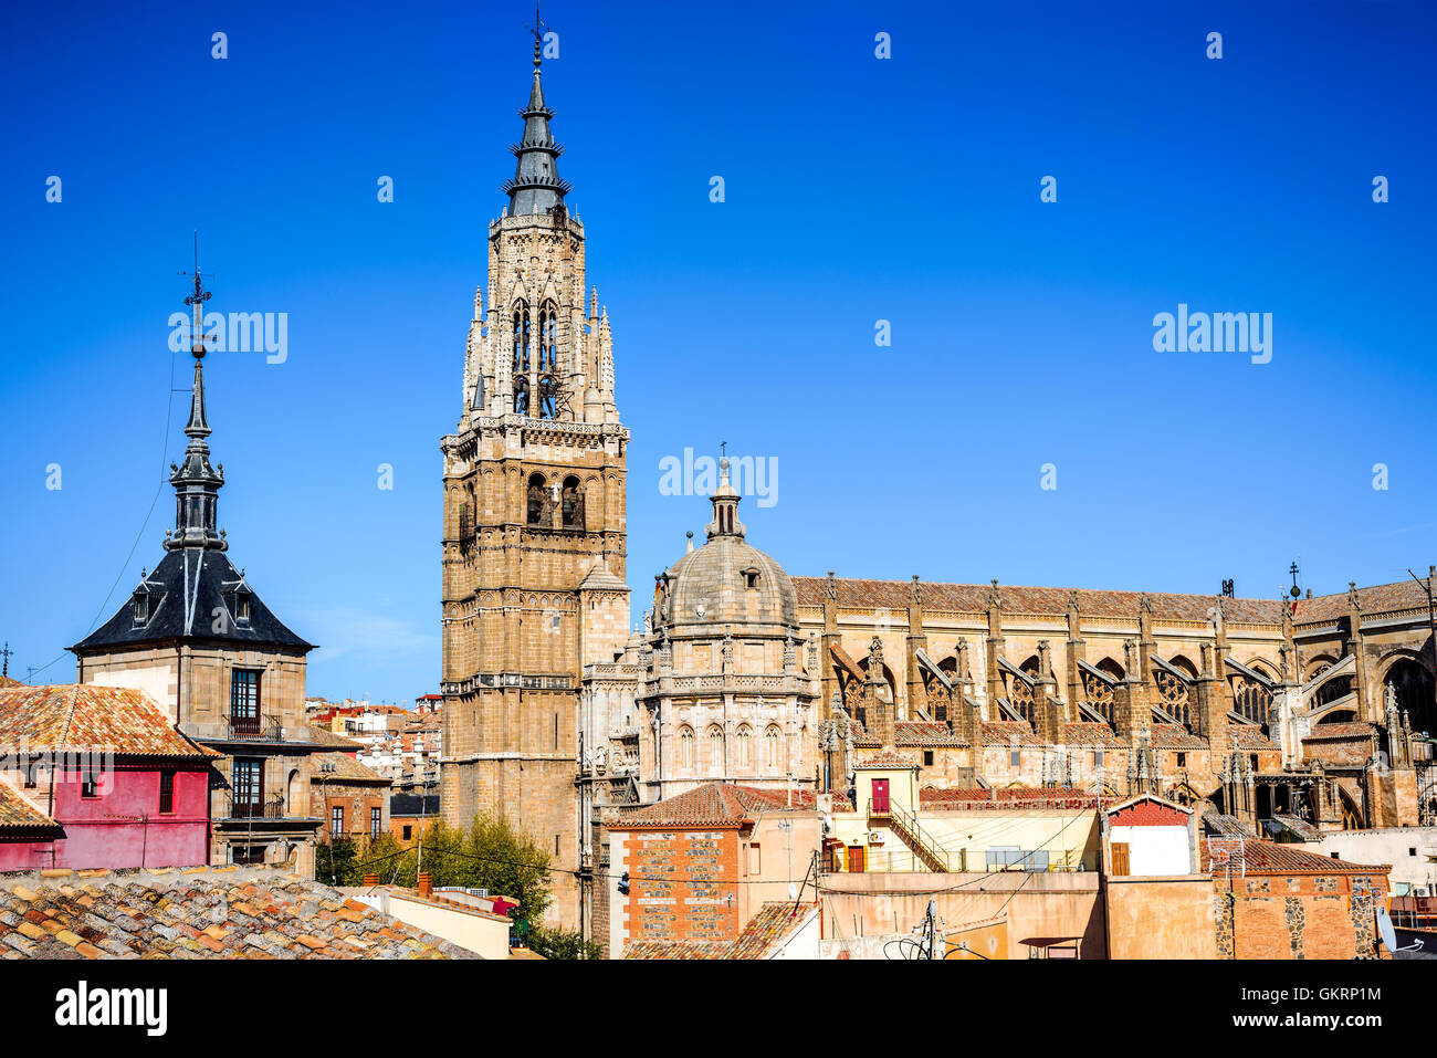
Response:
[[[438,438],[532,7],[55,9],[0,16],[11,671],[161,556],[187,401],[167,319],[198,229],[211,308],[289,313],[285,364],[207,361],[233,561],[320,644],[310,693],[435,690]],[[1270,598],[1295,558],[1316,592],[1437,561],[1430,6],[553,0],[545,20],[632,431],[635,618],[708,518],[660,494],[660,460],[718,441],[777,460],[777,503],[741,515],[790,574]],[[1154,352],[1180,302],[1270,312],[1272,362]]]

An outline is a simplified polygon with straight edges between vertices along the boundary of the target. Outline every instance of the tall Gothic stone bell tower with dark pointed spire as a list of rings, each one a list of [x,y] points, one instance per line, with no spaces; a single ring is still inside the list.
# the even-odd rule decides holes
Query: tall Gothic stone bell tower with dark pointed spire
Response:
[[[614,661],[628,627],[628,430],[614,404],[608,313],[596,290],[585,305],[585,231],[565,201],[540,62],[536,27],[509,204],[489,224],[489,280],[474,296],[460,421],[441,443],[441,811],[458,827],[504,815],[555,867],[576,870],[579,684],[585,664]],[[592,591],[596,582],[608,589]],[[569,926],[570,877],[555,875],[550,911]]]

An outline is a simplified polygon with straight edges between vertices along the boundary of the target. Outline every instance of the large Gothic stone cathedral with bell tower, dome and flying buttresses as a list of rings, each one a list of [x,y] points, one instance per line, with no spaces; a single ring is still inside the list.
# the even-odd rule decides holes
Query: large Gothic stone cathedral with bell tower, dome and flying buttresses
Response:
[[[895,755],[923,788],[1151,792],[1219,834],[1437,821],[1433,568],[1277,599],[790,578],[724,460],[629,631],[628,430],[537,43],[520,116],[441,446],[443,812],[552,848],[560,924],[608,936],[605,812],[710,782],[841,805]]]

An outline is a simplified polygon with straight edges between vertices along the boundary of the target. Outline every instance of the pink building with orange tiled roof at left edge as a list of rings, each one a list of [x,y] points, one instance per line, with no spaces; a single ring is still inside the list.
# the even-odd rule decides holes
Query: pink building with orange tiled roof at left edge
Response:
[[[204,864],[216,756],[141,690],[0,687],[0,870]]]

